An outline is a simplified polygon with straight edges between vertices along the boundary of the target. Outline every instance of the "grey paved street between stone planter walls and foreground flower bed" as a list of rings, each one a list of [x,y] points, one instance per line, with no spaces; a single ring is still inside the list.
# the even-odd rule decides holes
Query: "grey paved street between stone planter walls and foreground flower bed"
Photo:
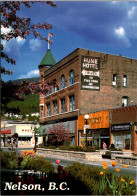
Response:
[[[32,150],[32,148],[18,148],[18,153],[21,153],[23,150],[27,150],[27,149],[30,149]],[[4,150],[7,150],[6,148]],[[36,153],[36,156],[38,156],[38,154],[40,153]],[[43,156],[43,154],[40,154]],[[63,157],[63,156],[55,156],[55,155],[46,155],[46,160],[50,160],[53,165],[55,166],[55,168],[57,168],[57,164],[56,164],[56,160],[59,159],[60,160],[60,164],[63,166],[63,167],[66,167],[68,165],[72,165],[74,162],[80,162],[80,163],[83,163],[85,165],[89,165],[91,167],[95,167],[95,168],[102,168],[102,161],[105,161],[108,163],[108,170],[109,171],[112,171],[113,168],[111,166],[111,162],[112,160],[110,159],[102,159],[102,161],[85,161],[83,159],[78,159],[78,158],[68,158],[68,157]],[[119,172],[119,175],[120,174],[125,174],[125,175],[129,175],[131,176],[134,181],[136,182],[136,185],[137,185],[137,167],[135,166],[127,166],[126,169],[124,169],[122,167],[121,164],[117,164],[116,168],[119,168],[120,169],[120,172]]]

